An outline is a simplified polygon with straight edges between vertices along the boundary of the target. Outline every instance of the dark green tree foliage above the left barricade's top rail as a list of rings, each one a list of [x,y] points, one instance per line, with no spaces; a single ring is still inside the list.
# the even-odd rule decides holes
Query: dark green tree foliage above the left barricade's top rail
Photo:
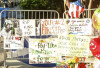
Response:
[[[57,10],[60,15],[64,12],[63,0],[24,0],[20,7],[25,10]]]

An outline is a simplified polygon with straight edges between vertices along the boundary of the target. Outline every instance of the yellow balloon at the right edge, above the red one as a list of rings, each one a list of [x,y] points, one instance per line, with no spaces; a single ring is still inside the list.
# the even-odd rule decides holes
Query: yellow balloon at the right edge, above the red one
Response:
[[[96,9],[92,16],[93,27],[100,30],[100,9]]]

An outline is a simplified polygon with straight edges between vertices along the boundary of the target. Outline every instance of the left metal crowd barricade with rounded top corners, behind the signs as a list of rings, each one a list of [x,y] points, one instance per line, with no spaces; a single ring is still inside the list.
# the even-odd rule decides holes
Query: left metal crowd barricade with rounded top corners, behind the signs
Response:
[[[10,20],[18,20],[18,19],[59,19],[59,13],[55,10],[3,10],[0,14],[1,16],[1,21],[0,21],[0,30],[3,28],[4,26],[4,22],[6,19],[10,19]],[[5,18],[2,18],[2,15],[5,16]],[[25,37],[25,39],[27,40],[28,37]],[[28,52],[27,48],[23,49],[25,52]],[[23,51],[23,50],[17,50],[17,57],[18,57],[18,53]],[[9,53],[10,57],[7,57],[7,52]],[[24,58],[25,52],[23,53],[23,55],[21,55],[21,58],[16,58],[14,57],[14,50],[12,49],[4,49],[4,67],[6,68],[7,65],[13,65],[14,63],[7,63],[7,60],[25,60],[28,58]],[[17,64],[17,65],[20,65]]]

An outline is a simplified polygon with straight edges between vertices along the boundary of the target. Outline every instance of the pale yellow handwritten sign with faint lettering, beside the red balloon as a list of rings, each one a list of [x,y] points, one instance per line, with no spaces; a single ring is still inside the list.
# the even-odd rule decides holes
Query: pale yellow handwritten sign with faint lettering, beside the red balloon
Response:
[[[87,57],[89,54],[88,36],[68,35],[60,36],[58,41],[58,50],[61,56]]]

